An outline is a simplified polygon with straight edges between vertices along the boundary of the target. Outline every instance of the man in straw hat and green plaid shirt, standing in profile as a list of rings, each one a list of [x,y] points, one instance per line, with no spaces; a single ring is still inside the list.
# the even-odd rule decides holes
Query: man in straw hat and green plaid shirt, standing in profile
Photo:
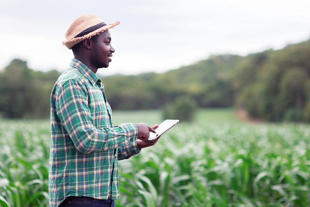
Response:
[[[51,93],[50,207],[114,206],[119,198],[117,160],[128,159],[144,147],[149,132],[145,123],[113,127],[104,85],[96,75],[111,61],[111,34],[97,15],[73,21],[63,44],[72,49],[70,68]]]

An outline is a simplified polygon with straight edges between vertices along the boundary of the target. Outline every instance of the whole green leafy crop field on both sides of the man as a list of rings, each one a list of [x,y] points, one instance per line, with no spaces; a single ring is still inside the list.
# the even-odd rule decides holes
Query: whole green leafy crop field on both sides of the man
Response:
[[[114,124],[161,123],[160,111],[115,111]],[[249,124],[200,110],[153,147],[119,161],[117,206],[308,206],[310,128]],[[1,206],[48,206],[49,121],[0,120]],[[7,204],[4,204],[5,201]]]

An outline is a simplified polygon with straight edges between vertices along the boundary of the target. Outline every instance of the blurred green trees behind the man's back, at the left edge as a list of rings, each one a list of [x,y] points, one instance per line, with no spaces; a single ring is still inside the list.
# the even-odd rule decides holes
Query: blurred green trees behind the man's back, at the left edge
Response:
[[[0,112],[7,118],[47,118],[50,94],[59,72],[35,72],[19,59],[0,74]]]

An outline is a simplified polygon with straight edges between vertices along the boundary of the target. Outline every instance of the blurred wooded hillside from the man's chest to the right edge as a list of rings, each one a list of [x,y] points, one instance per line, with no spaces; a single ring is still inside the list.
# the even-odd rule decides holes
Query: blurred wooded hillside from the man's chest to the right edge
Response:
[[[310,41],[242,57],[214,55],[166,73],[103,78],[113,109],[159,108],[188,96],[200,107],[245,109],[269,121],[310,121]]]

